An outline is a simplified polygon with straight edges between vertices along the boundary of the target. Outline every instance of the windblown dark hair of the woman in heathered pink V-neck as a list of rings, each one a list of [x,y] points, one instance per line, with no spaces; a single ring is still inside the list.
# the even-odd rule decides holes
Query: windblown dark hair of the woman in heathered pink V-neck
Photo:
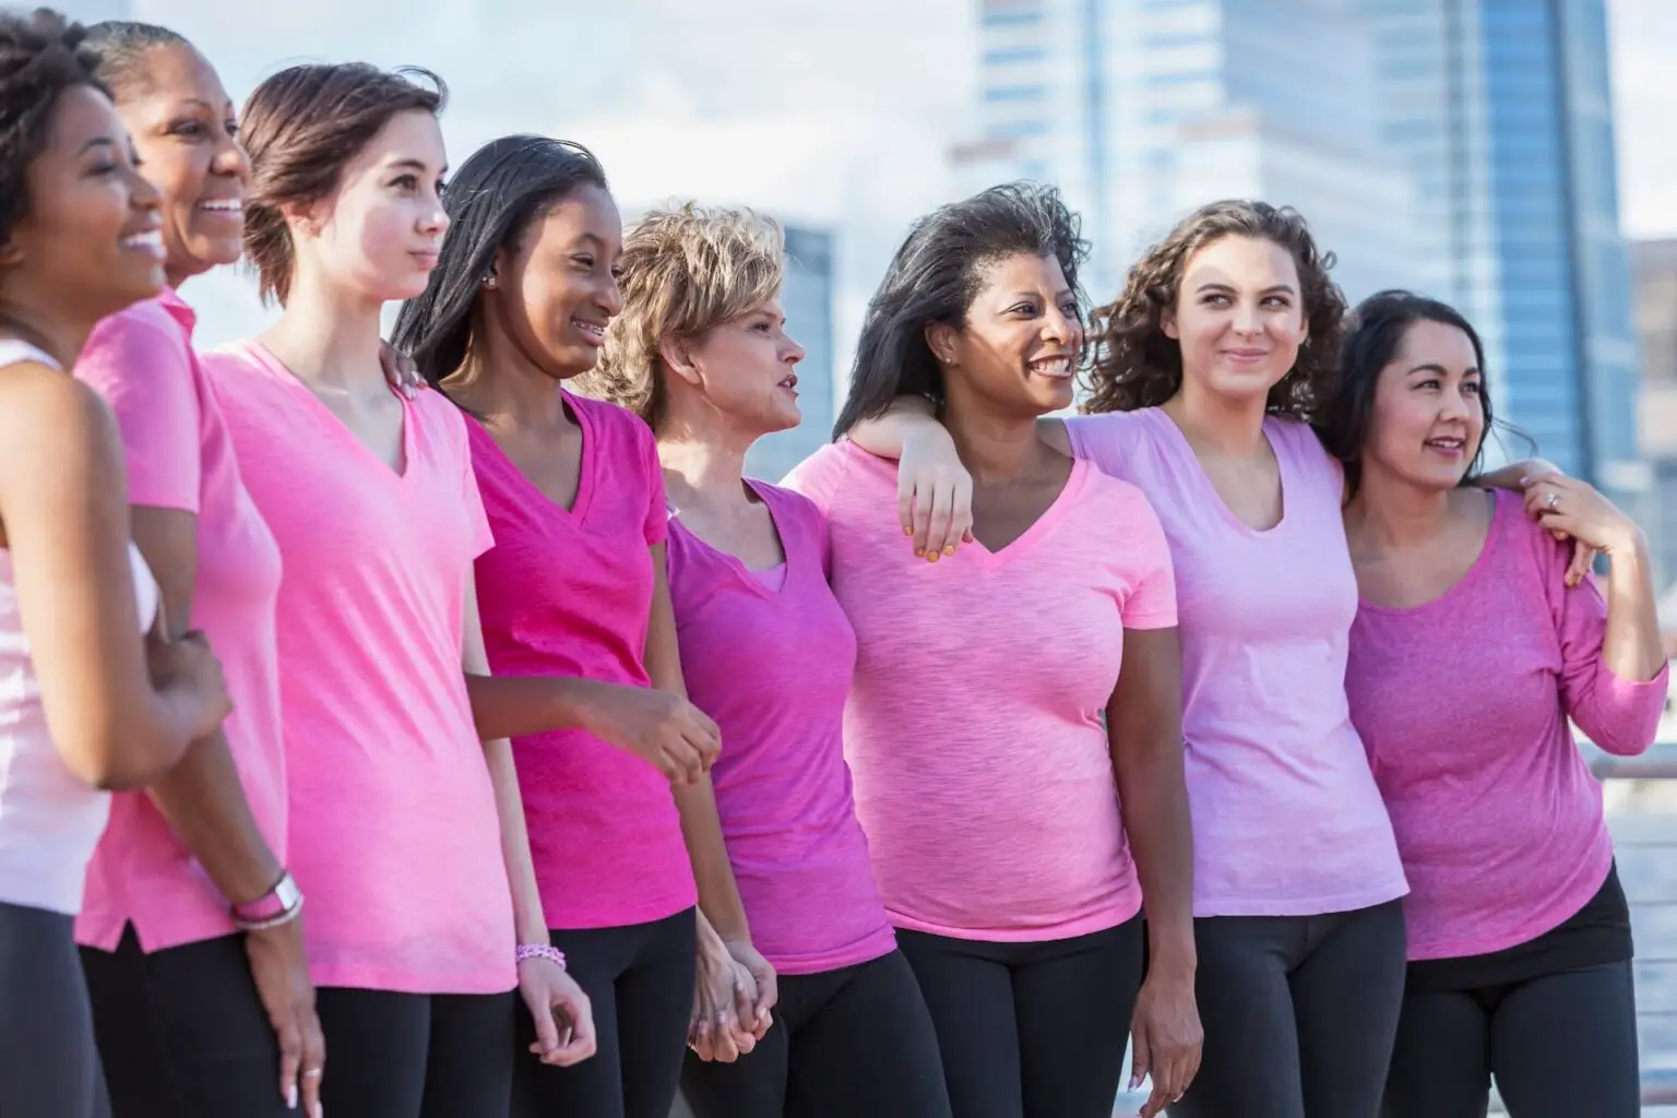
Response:
[[[984,265],[1021,253],[1058,260],[1082,305],[1077,272],[1088,258],[1088,241],[1055,188],[991,186],[917,220],[867,303],[833,437],[882,416],[897,396],[924,396],[941,406],[942,367],[926,344],[927,323],[964,323],[983,288]]]

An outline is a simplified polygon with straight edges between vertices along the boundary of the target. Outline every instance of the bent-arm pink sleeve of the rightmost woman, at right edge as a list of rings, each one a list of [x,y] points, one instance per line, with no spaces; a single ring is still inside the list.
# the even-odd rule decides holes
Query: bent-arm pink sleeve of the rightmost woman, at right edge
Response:
[[[1555,632],[1560,637],[1561,702],[1566,706],[1566,714],[1602,749],[1618,756],[1642,753],[1659,734],[1670,665],[1660,667],[1659,674],[1645,682],[1613,674],[1602,659],[1607,600],[1595,577],[1568,587],[1571,541],[1555,540],[1529,521],[1523,526],[1538,550],[1550,613],[1555,617]]]

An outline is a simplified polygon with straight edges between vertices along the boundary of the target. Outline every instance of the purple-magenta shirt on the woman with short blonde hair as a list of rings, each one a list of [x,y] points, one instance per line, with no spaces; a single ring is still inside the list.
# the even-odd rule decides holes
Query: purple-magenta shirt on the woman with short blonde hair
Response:
[[[787,489],[751,488],[780,531],[780,578],[676,515],[669,592],[688,694],[723,731],[711,779],[751,942],[781,974],[818,974],[896,945],[844,761],[855,634],[827,585],[822,515]]]

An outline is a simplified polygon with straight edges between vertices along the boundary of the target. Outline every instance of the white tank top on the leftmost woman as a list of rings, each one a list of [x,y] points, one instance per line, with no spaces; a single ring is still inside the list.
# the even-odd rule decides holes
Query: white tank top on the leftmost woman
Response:
[[[0,369],[22,360],[59,367],[34,345],[0,339]],[[144,632],[158,613],[158,583],[132,543],[127,562]],[[47,732],[12,553],[0,548],[0,900],[74,915],[109,813],[111,795],[70,773]]]

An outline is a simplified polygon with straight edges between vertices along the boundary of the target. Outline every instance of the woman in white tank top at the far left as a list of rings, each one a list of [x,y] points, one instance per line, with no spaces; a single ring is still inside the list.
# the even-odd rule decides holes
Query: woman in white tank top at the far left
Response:
[[[72,919],[112,788],[226,716],[200,637],[143,640],[158,587],[127,541],[122,449],[65,369],[158,293],[158,194],[82,30],[0,15],[0,1106],[107,1113]]]

